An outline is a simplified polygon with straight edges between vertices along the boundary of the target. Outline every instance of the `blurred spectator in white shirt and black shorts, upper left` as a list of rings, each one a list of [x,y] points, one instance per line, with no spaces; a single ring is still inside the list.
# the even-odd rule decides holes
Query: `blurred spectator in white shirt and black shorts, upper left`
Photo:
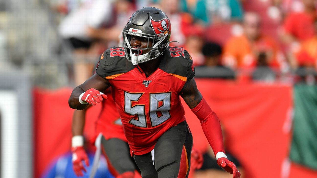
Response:
[[[64,43],[70,47],[75,61],[75,85],[85,81],[90,76],[93,67],[92,64],[88,65],[89,56],[95,54],[94,38],[89,35],[89,29],[98,29],[103,24],[111,24],[112,14],[112,4],[109,1],[92,0],[82,3],[61,21],[59,34]]]

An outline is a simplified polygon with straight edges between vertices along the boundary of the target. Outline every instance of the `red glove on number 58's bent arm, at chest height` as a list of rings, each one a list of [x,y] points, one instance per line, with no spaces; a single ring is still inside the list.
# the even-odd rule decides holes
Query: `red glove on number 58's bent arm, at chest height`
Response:
[[[99,92],[98,90],[94,88],[90,88],[84,93],[81,93],[79,96],[79,102],[81,104],[90,104],[90,105],[97,105],[97,103],[100,103],[103,99],[107,99],[107,95],[103,94],[102,92]]]

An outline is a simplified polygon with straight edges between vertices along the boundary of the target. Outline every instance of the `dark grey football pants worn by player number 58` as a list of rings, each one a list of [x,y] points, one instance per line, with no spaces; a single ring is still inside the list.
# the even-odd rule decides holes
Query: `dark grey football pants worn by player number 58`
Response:
[[[152,153],[134,155],[142,178],[187,178],[190,169],[193,137],[186,121],[167,130]]]

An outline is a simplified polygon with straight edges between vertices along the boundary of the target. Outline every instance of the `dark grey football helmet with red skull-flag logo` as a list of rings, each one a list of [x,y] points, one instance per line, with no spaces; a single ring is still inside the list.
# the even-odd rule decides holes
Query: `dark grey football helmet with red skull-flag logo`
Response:
[[[164,53],[170,43],[171,22],[162,10],[154,7],[143,7],[130,17],[122,35],[126,58],[133,65],[137,65],[155,59]],[[130,44],[132,35],[147,39],[147,47],[132,48]],[[152,46],[149,46],[150,41],[152,41]],[[142,54],[147,49],[151,50]]]

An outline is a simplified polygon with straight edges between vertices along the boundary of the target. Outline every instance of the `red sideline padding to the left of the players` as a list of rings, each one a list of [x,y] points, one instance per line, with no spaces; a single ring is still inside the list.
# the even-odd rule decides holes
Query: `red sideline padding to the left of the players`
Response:
[[[34,109],[34,177],[39,178],[58,156],[70,151],[72,116],[68,106],[73,89],[33,90]],[[94,121],[101,107],[89,108],[84,132],[88,139],[94,137]]]

